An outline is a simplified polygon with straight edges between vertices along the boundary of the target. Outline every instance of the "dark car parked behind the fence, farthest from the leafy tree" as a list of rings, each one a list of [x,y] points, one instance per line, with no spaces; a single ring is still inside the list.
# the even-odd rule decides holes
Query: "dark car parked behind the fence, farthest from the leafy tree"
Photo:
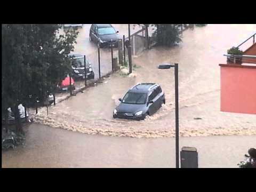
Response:
[[[110,24],[92,24],[90,29],[90,41],[99,44],[100,47],[110,47],[111,39],[113,46],[118,46],[118,31]]]

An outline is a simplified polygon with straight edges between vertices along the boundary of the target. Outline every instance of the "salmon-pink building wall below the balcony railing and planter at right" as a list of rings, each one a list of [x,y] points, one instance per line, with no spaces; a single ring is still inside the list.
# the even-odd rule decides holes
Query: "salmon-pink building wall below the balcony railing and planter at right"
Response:
[[[220,64],[220,75],[220,110],[256,114],[256,66]]]

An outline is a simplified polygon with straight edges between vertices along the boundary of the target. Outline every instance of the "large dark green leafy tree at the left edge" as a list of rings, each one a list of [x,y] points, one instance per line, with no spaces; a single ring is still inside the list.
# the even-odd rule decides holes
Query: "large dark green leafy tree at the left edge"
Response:
[[[46,98],[71,65],[68,54],[74,50],[78,32],[60,34],[59,24],[2,25],[2,114],[12,107],[17,129],[21,130],[18,105],[36,97]],[[4,112],[4,113],[3,113]]]

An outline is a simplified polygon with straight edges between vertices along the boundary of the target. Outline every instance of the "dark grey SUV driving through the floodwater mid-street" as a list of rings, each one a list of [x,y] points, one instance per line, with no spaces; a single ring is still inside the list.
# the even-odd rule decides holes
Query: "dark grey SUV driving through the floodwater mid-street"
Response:
[[[162,103],[165,104],[165,95],[161,86],[155,83],[139,83],[133,86],[113,112],[114,118],[145,119],[154,114]]]

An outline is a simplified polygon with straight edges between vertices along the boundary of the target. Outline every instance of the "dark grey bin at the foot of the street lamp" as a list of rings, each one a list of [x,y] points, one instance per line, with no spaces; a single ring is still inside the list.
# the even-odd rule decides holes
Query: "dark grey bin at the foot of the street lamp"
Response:
[[[198,153],[195,147],[182,147],[180,151],[181,168],[198,168]]]

